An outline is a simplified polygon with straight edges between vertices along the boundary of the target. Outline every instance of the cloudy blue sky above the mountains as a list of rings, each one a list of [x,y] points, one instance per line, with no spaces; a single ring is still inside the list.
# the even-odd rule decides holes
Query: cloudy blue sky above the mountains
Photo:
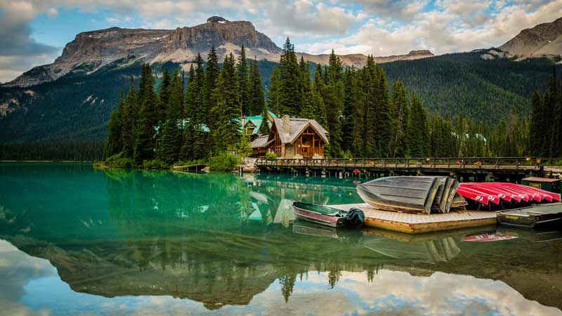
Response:
[[[248,20],[296,51],[443,54],[500,46],[562,17],[562,0],[0,0],[0,81],[53,62],[79,32]]]

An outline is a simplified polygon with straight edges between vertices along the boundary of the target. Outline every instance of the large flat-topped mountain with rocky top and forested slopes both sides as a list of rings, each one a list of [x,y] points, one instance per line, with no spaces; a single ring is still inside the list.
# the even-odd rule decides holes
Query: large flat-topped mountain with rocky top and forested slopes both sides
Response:
[[[207,55],[213,45],[222,58],[229,51],[236,53],[242,44],[262,53],[258,64],[267,89],[280,48],[250,22],[214,17],[203,25],[175,30],[112,28],[81,33],[53,64],[35,67],[0,86],[0,157],[22,157],[17,154],[22,146],[8,143],[33,143],[25,145],[25,152],[35,150],[30,158],[80,159],[76,147],[103,147],[119,92],[126,91],[131,77],[138,84],[143,62],[152,62],[159,84],[164,68],[185,69],[198,52]],[[384,62],[381,67],[391,86],[395,80],[403,81],[432,112],[449,117],[462,113],[481,124],[496,124],[510,114],[530,113],[532,92],[544,90],[553,65],[547,58],[518,62],[497,58],[505,54],[495,48],[426,58],[431,52],[412,51],[376,60]],[[327,59],[326,55],[303,56],[313,62]],[[360,67],[366,57],[341,58],[346,65]],[[45,154],[48,150],[53,154]],[[60,152],[66,155],[55,156]]]

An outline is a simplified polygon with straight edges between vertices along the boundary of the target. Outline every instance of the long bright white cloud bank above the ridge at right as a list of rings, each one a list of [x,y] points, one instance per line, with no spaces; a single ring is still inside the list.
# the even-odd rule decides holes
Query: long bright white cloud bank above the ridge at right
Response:
[[[312,53],[403,54],[415,49],[433,53],[471,51],[500,46],[523,28],[551,22],[562,16],[562,0],[535,4],[509,4],[499,8],[490,2],[443,0],[438,10],[417,13],[411,22],[386,23],[370,18],[358,32],[330,41],[311,41],[299,49]],[[485,22],[475,23],[474,20]]]

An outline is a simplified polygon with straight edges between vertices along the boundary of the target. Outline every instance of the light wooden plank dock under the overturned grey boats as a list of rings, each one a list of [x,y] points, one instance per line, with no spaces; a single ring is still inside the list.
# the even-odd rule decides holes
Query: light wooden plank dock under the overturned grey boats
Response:
[[[460,228],[495,225],[497,223],[496,213],[490,211],[462,211],[426,215],[381,211],[373,209],[372,206],[366,203],[329,206],[345,211],[351,207],[357,207],[365,212],[366,226],[409,234],[457,230]]]

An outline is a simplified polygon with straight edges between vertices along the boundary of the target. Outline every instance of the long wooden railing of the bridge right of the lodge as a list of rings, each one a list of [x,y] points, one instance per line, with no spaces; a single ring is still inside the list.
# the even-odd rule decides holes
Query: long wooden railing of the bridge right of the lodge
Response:
[[[423,157],[423,158],[277,158],[256,159],[256,166],[447,168],[447,169],[540,169],[541,157]]]

